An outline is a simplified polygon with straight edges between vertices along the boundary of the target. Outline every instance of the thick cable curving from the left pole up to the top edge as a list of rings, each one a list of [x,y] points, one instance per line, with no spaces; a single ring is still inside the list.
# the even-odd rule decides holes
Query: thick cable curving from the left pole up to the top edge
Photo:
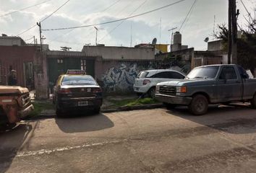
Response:
[[[98,26],[98,25],[106,25],[106,24],[110,24],[110,23],[114,23],[114,22],[119,22],[119,21],[122,21],[122,20],[126,20],[126,19],[132,19],[132,18],[135,18],[135,17],[140,17],[142,15],[145,15],[145,14],[149,14],[151,12],[156,12],[160,9],[165,9],[167,8],[168,6],[173,6],[175,4],[179,4],[181,3],[182,1],[186,1],[186,0],[179,0],[179,1],[176,1],[174,3],[171,3],[171,4],[168,4],[166,6],[161,6],[157,9],[153,9],[153,10],[150,10],[148,12],[144,12],[144,13],[141,13],[141,14],[137,14],[137,15],[134,15],[134,16],[131,16],[131,17],[125,17],[125,18],[122,18],[122,19],[116,19],[116,20],[112,20],[112,21],[108,21],[108,22],[103,22],[103,23],[98,23],[98,24],[92,24],[92,25],[82,25],[82,26],[78,26],[78,27],[62,27],[62,28],[54,28],[54,29],[44,29],[43,31],[52,31],[52,30],[70,30],[70,29],[74,29],[74,28],[81,28],[81,27],[93,27],[93,26]]]

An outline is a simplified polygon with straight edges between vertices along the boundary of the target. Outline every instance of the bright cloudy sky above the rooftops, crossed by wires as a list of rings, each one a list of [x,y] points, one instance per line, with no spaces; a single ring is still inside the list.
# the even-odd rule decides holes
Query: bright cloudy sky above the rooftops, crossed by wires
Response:
[[[151,43],[154,37],[157,38],[158,44],[170,44],[172,32],[168,30],[177,27],[173,31],[181,32],[182,45],[188,45],[189,48],[195,48],[195,50],[207,50],[205,37],[209,37],[210,41],[215,40],[213,31],[218,31],[218,25],[228,23],[228,0],[179,1],[0,0],[0,34],[19,35],[26,43],[33,43],[33,36],[35,36],[39,43],[39,27],[36,22],[42,21],[64,4],[58,11],[41,22],[42,35],[46,38],[43,43],[48,44],[51,50],[60,50],[60,47],[67,46],[73,51],[80,51],[83,45],[95,45],[95,27],[98,28],[98,44],[127,47]],[[256,0],[242,1],[249,13],[254,16]],[[176,2],[179,3],[174,4]],[[194,2],[195,5],[192,6]],[[34,6],[35,4],[37,5]],[[174,5],[139,17],[94,27],[98,23],[131,17],[168,4]],[[246,26],[247,22],[244,17],[248,18],[248,13],[242,6],[241,0],[236,0],[236,7],[241,13],[238,18],[239,25]],[[191,8],[192,11],[189,13]],[[184,22],[186,16],[187,19]],[[85,25],[93,26],[45,31],[46,29]],[[33,28],[24,32],[30,27]]]

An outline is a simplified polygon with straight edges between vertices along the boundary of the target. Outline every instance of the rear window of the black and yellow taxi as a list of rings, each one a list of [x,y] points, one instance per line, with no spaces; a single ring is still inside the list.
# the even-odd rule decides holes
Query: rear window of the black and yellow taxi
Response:
[[[61,81],[61,85],[72,85],[72,84],[97,84],[91,76],[64,76]]]

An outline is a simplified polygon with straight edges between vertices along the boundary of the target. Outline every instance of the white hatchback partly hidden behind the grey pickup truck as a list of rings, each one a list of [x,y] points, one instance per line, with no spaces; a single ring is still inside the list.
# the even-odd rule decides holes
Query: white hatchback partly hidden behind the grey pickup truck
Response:
[[[171,81],[172,79],[184,79],[186,76],[179,71],[158,69],[140,71],[135,79],[133,89],[138,95],[148,94],[149,97],[155,97],[155,86],[162,81]]]

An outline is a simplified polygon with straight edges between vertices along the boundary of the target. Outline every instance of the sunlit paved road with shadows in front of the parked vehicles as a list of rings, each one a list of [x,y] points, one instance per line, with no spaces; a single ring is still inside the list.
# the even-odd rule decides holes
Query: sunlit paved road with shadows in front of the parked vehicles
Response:
[[[22,122],[0,172],[255,172],[256,110],[137,110]]]

